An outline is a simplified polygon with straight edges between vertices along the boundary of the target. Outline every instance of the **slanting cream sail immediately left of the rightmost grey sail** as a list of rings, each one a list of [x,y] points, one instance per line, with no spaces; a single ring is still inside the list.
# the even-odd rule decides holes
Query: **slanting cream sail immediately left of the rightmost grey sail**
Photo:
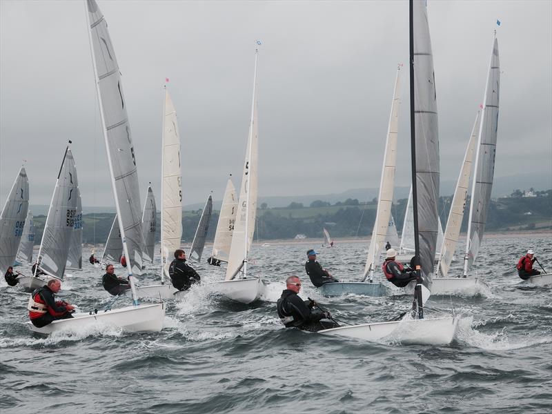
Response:
[[[442,277],[446,277],[446,275],[449,274],[449,268],[451,267],[451,262],[453,261],[453,256],[456,251],[458,237],[460,237],[460,228],[462,228],[462,220],[464,219],[466,197],[468,195],[468,186],[471,177],[471,164],[473,161],[475,140],[477,139],[477,132],[479,131],[480,115],[481,112],[477,111],[468,148],[466,148],[466,154],[464,155],[464,162],[462,162],[462,168],[460,168],[460,176],[458,177],[453,199],[451,201],[449,219],[446,221],[444,242],[439,263],[437,264],[437,274],[440,273]],[[439,244],[437,244],[437,246],[439,246]]]

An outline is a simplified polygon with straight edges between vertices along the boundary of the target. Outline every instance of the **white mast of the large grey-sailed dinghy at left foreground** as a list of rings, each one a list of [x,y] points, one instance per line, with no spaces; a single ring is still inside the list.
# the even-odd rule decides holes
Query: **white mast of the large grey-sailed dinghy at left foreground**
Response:
[[[119,198],[117,197],[117,186],[115,184],[115,171],[113,170],[113,162],[111,159],[111,154],[109,151],[109,137],[107,133],[107,124],[106,124],[106,117],[103,114],[103,101],[101,99],[101,90],[99,88],[99,76],[98,76],[98,70],[97,70],[97,63],[96,63],[96,56],[94,52],[94,43],[92,42],[92,31],[90,30],[90,14],[88,13],[88,10],[86,12],[86,22],[88,24],[88,41],[90,41],[90,55],[92,56],[92,67],[94,68],[94,81],[96,85],[96,93],[98,96],[98,104],[99,104],[99,113],[101,117],[101,126],[103,127],[103,140],[106,143],[106,152],[108,155],[108,166],[109,166],[109,172],[110,172],[110,178],[111,178],[111,187],[113,190],[113,194],[115,195],[115,208],[117,210],[117,221],[119,223],[119,231],[121,232],[121,240],[123,241],[123,253],[125,254],[125,257],[127,258],[127,265],[126,270],[128,273],[128,282],[130,283],[130,290],[132,293],[132,304],[137,306],[138,305],[138,295],[136,293],[136,286],[134,283],[134,275],[132,274],[132,262],[130,262],[130,255],[128,254],[128,246],[126,244],[126,237],[125,237],[125,229],[124,229],[124,223],[123,219],[121,217],[121,206],[119,205]]]

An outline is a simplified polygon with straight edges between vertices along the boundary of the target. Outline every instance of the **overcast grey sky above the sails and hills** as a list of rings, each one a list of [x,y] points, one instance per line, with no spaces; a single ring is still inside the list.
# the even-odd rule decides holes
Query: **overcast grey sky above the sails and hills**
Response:
[[[399,62],[396,183],[408,185],[407,1],[98,5],[123,75],[142,197],[148,181],[159,196],[166,77],[179,117],[184,204],[210,190],[221,199],[228,173],[241,177],[256,39],[259,195],[377,187]],[[428,1],[442,180],[460,170],[495,29],[502,70],[495,176],[552,176],[551,17],[551,1]],[[31,204],[49,204],[68,139],[83,205],[114,205],[83,2],[1,0],[0,36],[2,206],[23,159]]]

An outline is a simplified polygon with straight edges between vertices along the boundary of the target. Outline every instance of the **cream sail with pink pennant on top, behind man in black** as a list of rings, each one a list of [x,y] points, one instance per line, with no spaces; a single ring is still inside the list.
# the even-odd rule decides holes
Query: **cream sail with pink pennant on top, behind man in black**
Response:
[[[161,283],[182,237],[182,172],[175,106],[165,88],[161,154]]]

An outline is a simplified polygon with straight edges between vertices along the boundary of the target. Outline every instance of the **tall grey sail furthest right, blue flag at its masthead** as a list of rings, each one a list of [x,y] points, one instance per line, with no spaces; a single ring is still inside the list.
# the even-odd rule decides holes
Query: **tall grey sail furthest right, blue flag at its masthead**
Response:
[[[498,129],[498,103],[500,98],[500,59],[498,41],[495,37],[491,52],[491,64],[487,75],[484,105],[481,115],[479,139],[475,155],[474,179],[471,187],[468,242],[464,257],[464,277],[479,252],[486,222],[493,176],[495,173],[496,137]]]

